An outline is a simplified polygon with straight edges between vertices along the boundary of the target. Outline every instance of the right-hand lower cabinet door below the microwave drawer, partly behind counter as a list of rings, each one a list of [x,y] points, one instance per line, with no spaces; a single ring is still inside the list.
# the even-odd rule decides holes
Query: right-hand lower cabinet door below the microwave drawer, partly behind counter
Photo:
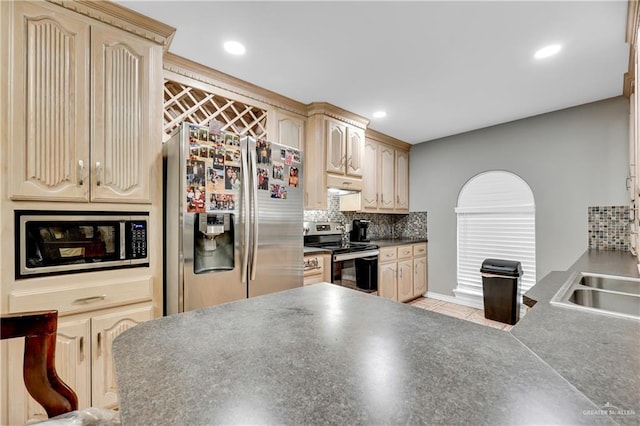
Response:
[[[131,327],[153,318],[153,307],[119,311],[91,319],[93,369],[92,405],[114,408],[118,404],[115,371],[113,369],[113,340]]]

